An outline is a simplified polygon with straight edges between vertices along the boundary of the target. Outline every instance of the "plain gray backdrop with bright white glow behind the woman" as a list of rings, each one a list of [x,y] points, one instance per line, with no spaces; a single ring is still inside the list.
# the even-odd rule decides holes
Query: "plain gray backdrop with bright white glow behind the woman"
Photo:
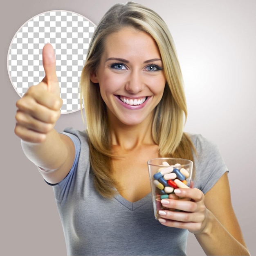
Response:
[[[65,255],[65,241],[52,188],[26,159],[14,135],[19,99],[7,71],[13,36],[30,18],[50,10],[79,13],[97,25],[116,0],[9,0],[1,3],[1,255]],[[126,1],[119,1],[126,2]],[[188,132],[218,144],[229,168],[231,195],[247,246],[256,255],[256,1],[138,0],[168,24],[184,74]],[[62,115],[83,129],[80,111]],[[154,221],[154,220],[152,220]],[[168,245],[165,245],[168,246]],[[204,255],[189,235],[188,255]]]

